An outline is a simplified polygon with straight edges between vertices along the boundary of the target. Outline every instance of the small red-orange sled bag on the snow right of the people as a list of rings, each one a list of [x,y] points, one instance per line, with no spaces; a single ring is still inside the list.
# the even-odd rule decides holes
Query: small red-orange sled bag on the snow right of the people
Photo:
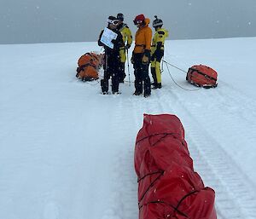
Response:
[[[189,67],[186,80],[198,87],[215,88],[218,85],[217,77],[218,73],[211,67],[198,65]]]

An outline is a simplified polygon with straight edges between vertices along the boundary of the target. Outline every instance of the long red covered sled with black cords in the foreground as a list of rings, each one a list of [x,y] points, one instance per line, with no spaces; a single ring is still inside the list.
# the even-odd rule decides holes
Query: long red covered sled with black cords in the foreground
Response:
[[[194,171],[175,115],[144,114],[134,162],[139,219],[217,219],[215,192]]]

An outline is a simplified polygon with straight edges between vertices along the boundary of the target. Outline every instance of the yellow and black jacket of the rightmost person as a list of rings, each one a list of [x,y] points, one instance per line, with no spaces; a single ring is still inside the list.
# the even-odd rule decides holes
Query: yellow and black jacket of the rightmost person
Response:
[[[160,28],[154,33],[154,37],[151,45],[151,55],[154,54],[156,49],[164,50],[166,37],[169,37],[169,32],[164,28]]]

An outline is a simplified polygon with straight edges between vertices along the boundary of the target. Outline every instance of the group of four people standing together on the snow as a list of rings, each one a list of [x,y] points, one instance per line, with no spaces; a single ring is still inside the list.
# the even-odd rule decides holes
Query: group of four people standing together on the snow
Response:
[[[163,21],[154,16],[153,27],[155,30],[152,38],[152,29],[148,26],[150,20],[143,14],[139,14],[133,20],[137,26],[135,35],[135,47],[132,51],[131,63],[134,68],[135,92],[134,95],[151,95],[152,89],[161,88],[160,61],[164,55],[165,39],[168,37],[166,29],[162,28]],[[117,14],[116,17],[108,17],[108,29],[116,34],[111,41],[113,47],[102,43],[102,30],[98,45],[105,49],[104,77],[101,81],[102,94],[108,94],[108,81],[112,80],[113,94],[119,94],[119,83],[124,83],[125,79],[125,61],[128,49],[131,48],[132,34],[130,28],[124,23],[124,14]],[[149,65],[153,83],[149,77]]]

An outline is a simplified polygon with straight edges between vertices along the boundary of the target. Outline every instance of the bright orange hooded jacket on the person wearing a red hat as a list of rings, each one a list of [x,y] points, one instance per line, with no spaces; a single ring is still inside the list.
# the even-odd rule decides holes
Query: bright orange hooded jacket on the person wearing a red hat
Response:
[[[150,20],[145,19],[145,26],[141,26],[135,35],[135,48],[133,49],[134,53],[143,53],[145,49],[150,50],[151,39],[152,39],[152,30],[148,26]]]

